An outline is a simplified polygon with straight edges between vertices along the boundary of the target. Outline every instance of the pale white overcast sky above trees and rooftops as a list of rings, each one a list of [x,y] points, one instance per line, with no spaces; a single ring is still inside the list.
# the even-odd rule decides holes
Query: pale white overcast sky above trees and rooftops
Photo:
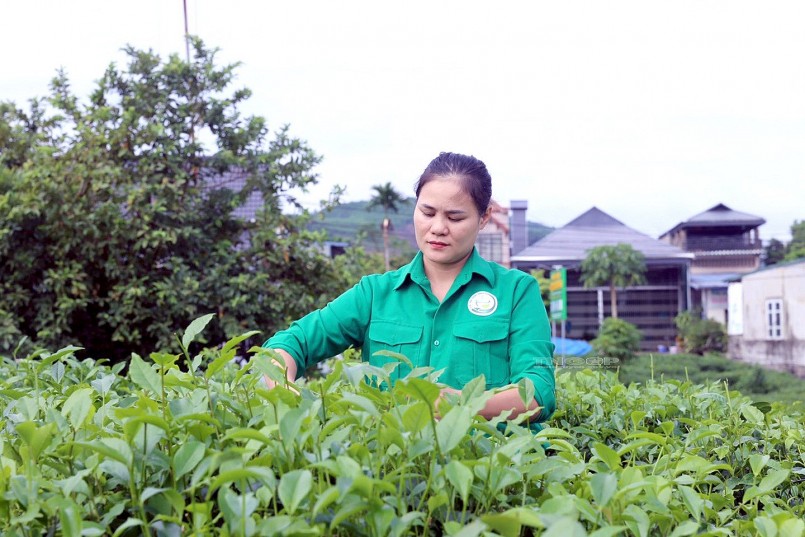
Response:
[[[58,68],[86,98],[131,44],[184,56],[182,0],[5,0],[0,100]],[[334,185],[413,185],[441,151],[483,160],[502,205],[558,227],[595,206],[658,237],[724,203],[805,220],[805,2],[186,0],[240,62],[244,113],[290,125]]]

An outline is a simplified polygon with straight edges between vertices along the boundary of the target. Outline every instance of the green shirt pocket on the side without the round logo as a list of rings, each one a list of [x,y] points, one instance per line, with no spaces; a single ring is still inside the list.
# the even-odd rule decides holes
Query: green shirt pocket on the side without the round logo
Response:
[[[400,363],[391,374],[392,380],[407,375],[411,368],[404,362],[390,356],[375,356],[377,351],[391,351],[402,354],[414,364],[419,364],[420,347],[422,344],[422,326],[400,324],[396,321],[372,321],[369,324],[369,363],[382,367],[388,363]]]

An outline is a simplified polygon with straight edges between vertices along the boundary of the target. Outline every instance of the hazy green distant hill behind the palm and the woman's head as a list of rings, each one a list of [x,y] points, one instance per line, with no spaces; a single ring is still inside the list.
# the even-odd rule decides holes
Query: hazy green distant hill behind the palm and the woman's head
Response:
[[[366,210],[368,201],[352,201],[342,203],[330,212],[317,214],[308,226],[311,230],[324,230],[327,238],[332,241],[343,241],[354,244],[359,233],[364,235],[362,244],[368,251],[383,250],[383,235],[380,222],[383,220],[383,210],[373,208]],[[398,252],[406,248],[416,250],[414,236],[414,206],[416,198],[408,198],[400,205],[398,213],[389,215],[392,223],[392,246]],[[537,222],[528,222],[528,243],[532,244],[548,233],[552,227]]]

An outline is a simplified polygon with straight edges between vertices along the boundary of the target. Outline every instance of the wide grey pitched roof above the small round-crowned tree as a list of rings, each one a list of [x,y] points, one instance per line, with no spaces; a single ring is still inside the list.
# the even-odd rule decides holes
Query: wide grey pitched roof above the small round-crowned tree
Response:
[[[602,210],[593,207],[565,226],[512,256],[513,262],[573,262],[581,261],[587,251],[596,246],[630,244],[641,252],[646,262],[652,260],[687,263],[693,254],[636,231]]]

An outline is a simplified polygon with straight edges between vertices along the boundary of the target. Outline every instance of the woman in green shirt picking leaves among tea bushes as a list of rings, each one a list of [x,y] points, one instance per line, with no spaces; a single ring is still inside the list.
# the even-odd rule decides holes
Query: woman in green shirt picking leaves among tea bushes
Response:
[[[362,347],[372,364],[390,350],[415,367],[444,370],[443,392],[460,393],[483,374],[504,388],[480,412],[515,417],[540,407],[534,421],[554,411],[553,344],[537,281],[484,260],[475,250],[489,222],[492,180],[480,160],[441,153],[416,184],[414,228],[419,253],[408,265],[366,276],[324,308],[294,322],[263,345],[285,361],[289,379],[344,349]],[[400,365],[394,379],[409,368]],[[534,383],[527,406],[516,384]]]

